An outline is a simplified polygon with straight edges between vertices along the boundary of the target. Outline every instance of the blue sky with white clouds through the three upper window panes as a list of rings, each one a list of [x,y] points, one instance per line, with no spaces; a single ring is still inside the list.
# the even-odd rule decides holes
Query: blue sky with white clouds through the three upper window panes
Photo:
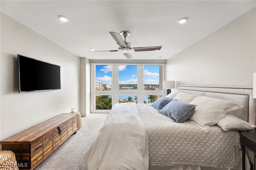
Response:
[[[96,65],[96,81],[112,84],[112,65]],[[119,65],[119,84],[137,84],[137,65]],[[159,84],[159,65],[144,65],[144,84]]]

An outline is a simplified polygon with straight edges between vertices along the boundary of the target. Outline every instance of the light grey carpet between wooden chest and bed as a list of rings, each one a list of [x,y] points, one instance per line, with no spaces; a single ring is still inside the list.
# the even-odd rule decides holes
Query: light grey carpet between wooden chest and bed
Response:
[[[35,170],[87,170],[82,157],[102,127],[108,114],[91,113],[82,117],[82,127],[56,149]]]

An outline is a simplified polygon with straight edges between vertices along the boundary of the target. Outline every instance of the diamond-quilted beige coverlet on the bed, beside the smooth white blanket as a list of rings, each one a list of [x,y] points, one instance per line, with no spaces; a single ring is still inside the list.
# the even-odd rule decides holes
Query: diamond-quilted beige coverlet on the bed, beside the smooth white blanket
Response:
[[[238,130],[211,126],[208,133],[185,121],[173,122],[150,104],[136,104],[148,135],[149,165],[178,164],[237,168],[240,158]]]

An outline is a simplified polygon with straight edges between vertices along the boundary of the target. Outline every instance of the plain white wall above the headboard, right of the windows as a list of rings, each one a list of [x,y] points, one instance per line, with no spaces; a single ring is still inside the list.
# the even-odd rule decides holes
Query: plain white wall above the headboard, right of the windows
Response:
[[[167,60],[178,85],[252,86],[256,71],[256,8]]]

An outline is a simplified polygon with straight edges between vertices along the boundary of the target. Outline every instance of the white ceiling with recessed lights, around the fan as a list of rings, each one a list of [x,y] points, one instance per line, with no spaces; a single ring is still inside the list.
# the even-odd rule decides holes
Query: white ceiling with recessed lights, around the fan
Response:
[[[1,11],[79,57],[126,59],[109,32],[129,31],[131,47],[162,45],[134,59],[168,59],[256,6],[248,0],[0,1]],[[69,18],[63,23],[58,16]],[[184,25],[178,19],[187,17]]]

